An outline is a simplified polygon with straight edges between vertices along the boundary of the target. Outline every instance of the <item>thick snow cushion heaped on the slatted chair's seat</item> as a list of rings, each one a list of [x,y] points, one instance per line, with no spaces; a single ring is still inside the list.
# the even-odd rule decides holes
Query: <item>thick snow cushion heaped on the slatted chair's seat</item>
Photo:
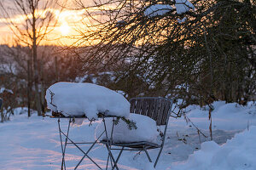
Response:
[[[113,127],[114,143],[130,143],[142,141],[157,143],[157,137],[160,133],[157,131],[156,122],[153,119],[148,116],[131,113],[129,120],[136,123],[137,129],[129,129],[127,123],[122,120],[119,120],[119,123],[113,127],[113,119],[107,118],[106,125],[108,131],[108,139],[111,137],[111,129]],[[104,123],[101,122],[96,127],[96,139],[102,134],[104,129]],[[100,139],[106,139],[105,133]]]

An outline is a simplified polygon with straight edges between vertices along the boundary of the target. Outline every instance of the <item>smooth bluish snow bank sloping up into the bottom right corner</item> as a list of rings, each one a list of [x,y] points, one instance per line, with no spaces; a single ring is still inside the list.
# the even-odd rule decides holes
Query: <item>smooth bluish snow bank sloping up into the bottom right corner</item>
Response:
[[[234,122],[236,123],[236,122]],[[226,144],[215,142],[201,144],[201,150],[195,151],[185,162],[175,163],[173,170],[238,170],[256,169],[256,126],[249,131],[238,133]]]

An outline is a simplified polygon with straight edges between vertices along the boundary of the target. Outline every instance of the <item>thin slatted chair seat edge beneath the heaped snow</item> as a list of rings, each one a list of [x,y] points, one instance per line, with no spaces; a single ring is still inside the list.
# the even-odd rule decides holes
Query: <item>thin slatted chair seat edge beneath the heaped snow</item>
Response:
[[[101,143],[107,144],[107,140],[101,140]],[[137,150],[142,150],[143,148],[150,150],[150,149],[155,149],[155,148],[161,147],[159,144],[155,144],[152,142],[146,142],[146,141],[130,142],[130,143],[112,143],[111,145],[128,147],[128,148],[137,149]]]

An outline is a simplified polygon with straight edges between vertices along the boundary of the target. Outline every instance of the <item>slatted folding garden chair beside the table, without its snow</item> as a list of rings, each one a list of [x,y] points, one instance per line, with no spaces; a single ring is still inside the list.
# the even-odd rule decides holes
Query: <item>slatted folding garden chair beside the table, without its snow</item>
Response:
[[[119,155],[116,159],[116,163],[119,161],[119,158],[123,150],[138,150],[144,151],[148,157],[148,161],[152,162],[151,157],[148,154],[148,150],[159,148],[159,154],[154,161],[154,167],[159,161],[160,154],[164,148],[165,139],[166,139],[166,130],[168,126],[169,116],[171,115],[172,110],[172,99],[158,98],[158,97],[141,97],[130,99],[131,113],[136,113],[144,116],[148,116],[156,122],[157,126],[164,125],[164,132],[160,132],[161,144],[154,144],[147,141],[141,142],[131,142],[131,143],[114,143],[110,141],[111,146],[119,146],[121,148],[111,148],[111,150],[120,150]],[[106,144],[106,140],[102,143]]]

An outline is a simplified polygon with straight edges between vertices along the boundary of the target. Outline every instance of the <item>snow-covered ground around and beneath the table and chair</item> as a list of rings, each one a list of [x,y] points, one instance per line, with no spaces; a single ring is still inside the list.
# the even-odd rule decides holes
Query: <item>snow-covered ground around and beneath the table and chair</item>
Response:
[[[166,144],[156,169],[173,170],[240,170],[256,169],[256,106],[240,106],[215,102],[212,111],[212,138],[209,135],[208,108],[200,109],[190,105],[187,116],[201,129],[207,138],[198,135],[191,123],[183,118],[170,118]],[[57,120],[38,117],[27,118],[26,114],[15,115],[11,121],[0,124],[0,169],[60,169],[61,144]],[[94,130],[100,122],[84,122],[80,127],[72,127],[70,138],[76,142],[94,139]],[[67,128],[67,120],[61,121]],[[236,134],[239,133],[239,134]],[[236,135],[235,135],[236,134]],[[235,136],[235,137],[234,137]],[[201,141],[201,142],[200,142]],[[206,142],[207,141],[207,142]],[[201,145],[202,143],[202,145]],[[83,146],[84,150],[89,148]],[[158,150],[149,150],[153,159]],[[114,156],[118,152],[113,151]],[[67,169],[73,169],[83,153],[73,145],[67,146]],[[90,151],[91,156],[102,167],[106,164],[108,152],[97,144]],[[125,151],[119,160],[119,169],[148,169],[147,157]],[[97,169],[87,158],[79,169]]]

